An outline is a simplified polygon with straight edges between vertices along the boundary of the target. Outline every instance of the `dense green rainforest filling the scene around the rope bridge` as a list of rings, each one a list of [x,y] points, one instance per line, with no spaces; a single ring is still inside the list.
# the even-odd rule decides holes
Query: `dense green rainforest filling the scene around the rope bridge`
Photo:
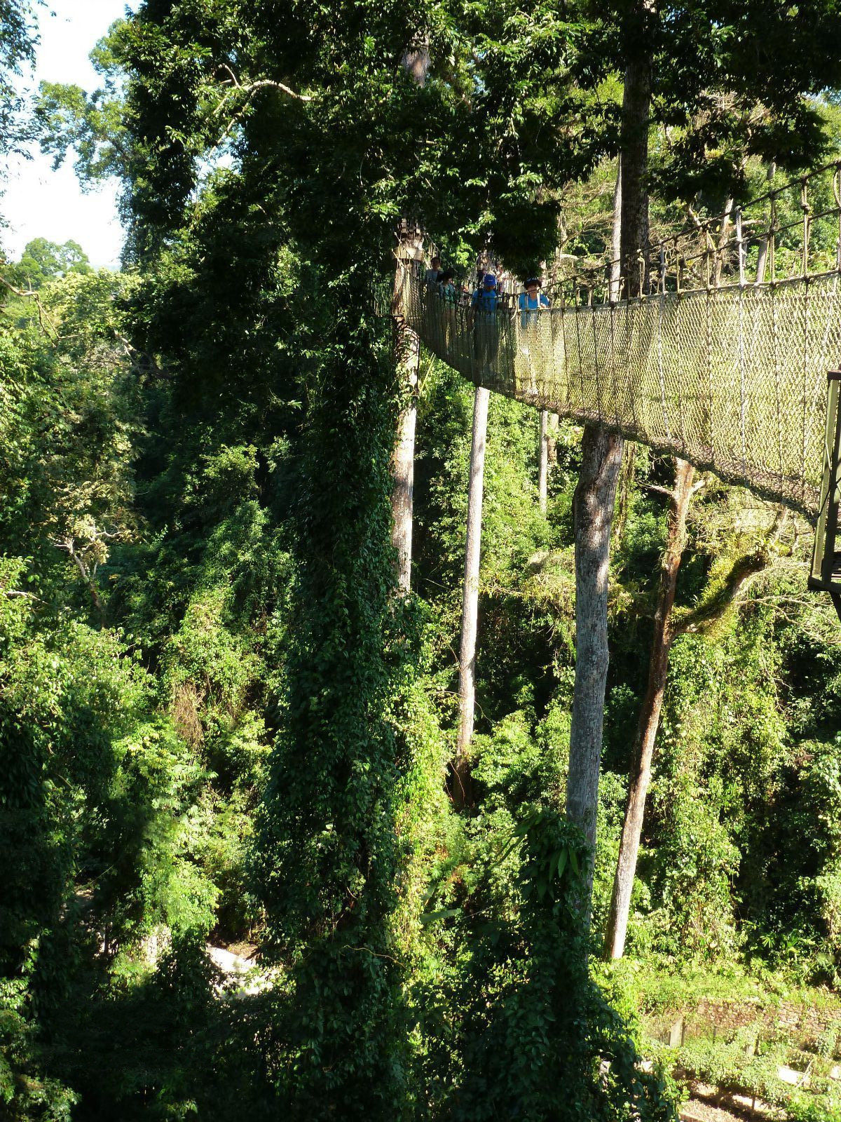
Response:
[[[834,0],[135,7],[98,90],[30,96],[34,10],[0,0],[0,147],[119,177],[126,232],[119,270],[0,258],[0,1114],[838,1122],[841,628],[812,527],[491,396],[458,754],[474,387],[423,347],[407,378],[391,306],[407,218],[469,283],[488,246],[524,276],[609,259],[621,157],[636,263],[838,159]],[[611,440],[583,813],[576,509]]]

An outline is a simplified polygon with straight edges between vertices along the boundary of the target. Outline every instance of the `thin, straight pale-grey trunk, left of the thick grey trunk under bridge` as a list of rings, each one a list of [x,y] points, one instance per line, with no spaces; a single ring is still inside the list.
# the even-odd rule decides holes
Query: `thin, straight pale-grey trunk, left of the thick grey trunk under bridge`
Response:
[[[482,540],[484,442],[488,433],[490,390],[477,386],[473,398],[473,438],[470,449],[468,537],[464,549],[461,657],[459,669],[459,738],[455,746],[456,801],[469,801],[466,753],[473,737],[475,709],[475,640],[479,613],[479,560]]]

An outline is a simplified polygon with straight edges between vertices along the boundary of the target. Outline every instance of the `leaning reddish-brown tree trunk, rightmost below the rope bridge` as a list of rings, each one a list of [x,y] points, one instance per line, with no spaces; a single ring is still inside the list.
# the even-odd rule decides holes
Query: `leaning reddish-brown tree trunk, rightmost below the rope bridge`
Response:
[[[643,834],[646,795],[651,780],[651,758],[663,707],[663,695],[668,677],[668,655],[674,633],[672,608],[675,603],[677,572],[686,540],[686,514],[693,495],[694,468],[684,460],[675,465],[675,488],[669,496],[668,534],[660,569],[660,587],[654,616],[654,637],[648,662],[648,686],[639,711],[634,764],[625,810],[622,839],[619,845],[613,895],[610,903],[608,930],[604,942],[607,958],[621,958],[628,931],[631,890],[637,871],[639,839]]]

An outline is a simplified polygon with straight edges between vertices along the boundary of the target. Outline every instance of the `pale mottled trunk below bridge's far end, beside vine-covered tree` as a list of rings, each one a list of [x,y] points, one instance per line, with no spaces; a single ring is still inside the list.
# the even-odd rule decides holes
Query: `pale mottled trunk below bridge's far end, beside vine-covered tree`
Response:
[[[398,361],[405,399],[397,421],[397,440],[394,452],[394,489],[391,491],[391,543],[397,550],[397,582],[401,592],[412,587],[412,524],[415,487],[415,425],[417,422],[417,375],[420,342],[409,328],[397,328]]]

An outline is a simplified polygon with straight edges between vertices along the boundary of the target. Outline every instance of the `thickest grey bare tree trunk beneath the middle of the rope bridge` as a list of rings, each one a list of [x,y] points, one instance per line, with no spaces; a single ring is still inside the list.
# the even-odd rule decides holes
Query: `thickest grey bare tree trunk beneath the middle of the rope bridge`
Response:
[[[604,686],[608,677],[608,562],[610,525],[622,438],[601,425],[584,427],[575,488],[575,686],[570,729],[566,813],[595,845]],[[582,910],[589,919],[592,863]]]

